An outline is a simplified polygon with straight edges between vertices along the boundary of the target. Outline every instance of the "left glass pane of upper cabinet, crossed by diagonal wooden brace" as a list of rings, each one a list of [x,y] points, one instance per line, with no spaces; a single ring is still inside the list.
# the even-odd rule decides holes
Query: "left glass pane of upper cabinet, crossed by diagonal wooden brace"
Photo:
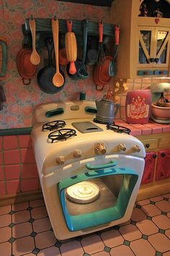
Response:
[[[140,30],[140,34],[143,40],[143,43],[146,47],[146,51],[148,51],[148,55],[151,54],[151,30]],[[146,58],[146,54],[143,51],[143,47],[139,42],[139,64],[148,63],[148,59]]]

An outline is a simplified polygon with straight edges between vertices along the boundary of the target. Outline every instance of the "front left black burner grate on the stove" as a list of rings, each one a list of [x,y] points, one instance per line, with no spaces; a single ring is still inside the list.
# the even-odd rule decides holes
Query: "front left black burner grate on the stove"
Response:
[[[48,139],[53,143],[55,140],[67,140],[73,136],[76,136],[75,129],[58,129],[58,131],[50,132]]]

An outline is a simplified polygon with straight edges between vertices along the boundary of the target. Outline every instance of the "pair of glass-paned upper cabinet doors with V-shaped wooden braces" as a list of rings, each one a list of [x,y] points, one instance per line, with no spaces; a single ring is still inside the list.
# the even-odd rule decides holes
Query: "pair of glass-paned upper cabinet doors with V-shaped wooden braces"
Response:
[[[138,30],[139,67],[168,67],[169,64],[169,38],[168,27],[143,27]],[[153,73],[154,74],[154,73]]]

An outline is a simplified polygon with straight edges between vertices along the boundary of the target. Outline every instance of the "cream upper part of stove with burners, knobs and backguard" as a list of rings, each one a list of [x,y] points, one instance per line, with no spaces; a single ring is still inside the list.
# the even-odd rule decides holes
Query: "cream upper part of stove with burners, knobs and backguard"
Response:
[[[68,103],[62,107],[64,111],[61,114],[55,114],[58,108],[61,111],[61,104],[37,108],[37,123],[32,128],[31,137],[39,168],[42,168],[45,159],[49,165],[55,166],[55,162],[50,163],[52,155],[61,162],[64,156],[66,163],[75,161],[77,157],[81,160],[99,154],[120,153],[145,157],[142,142],[124,131],[120,132],[120,129],[115,132],[114,129],[108,129],[106,124],[95,123],[95,113],[86,111],[87,107],[94,109],[94,103]],[[49,117],[49,113],[52,116]],[[133,151],[134,146],[140,151]]]

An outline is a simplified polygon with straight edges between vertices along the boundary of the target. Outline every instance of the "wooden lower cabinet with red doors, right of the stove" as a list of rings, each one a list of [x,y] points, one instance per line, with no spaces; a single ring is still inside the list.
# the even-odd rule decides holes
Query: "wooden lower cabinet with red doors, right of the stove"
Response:
[[[146,164],[137,200],[170,193],[170,133],[143,135],[138,139],[146,148]]]

